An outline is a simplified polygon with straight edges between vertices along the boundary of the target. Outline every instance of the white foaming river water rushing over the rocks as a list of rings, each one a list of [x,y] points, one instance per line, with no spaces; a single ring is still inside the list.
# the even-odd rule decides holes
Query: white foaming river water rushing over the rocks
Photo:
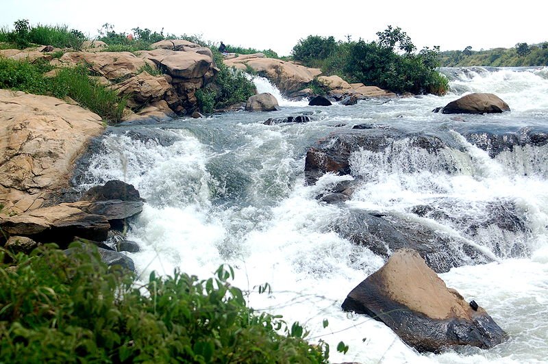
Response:
[[[491,158],[462,136],[466,132],[545,130],[548,69],[445,69],[447,96],[371,99],[345,107],[308,107],[287,101],[264,79],[260,91],[277,96],[277,112],[234,112],[203,119],[110,128],[86,162],[81,187],[121,179],[147,199],[129,239],[138,273],[171,274],[175,268],[212,276],[221,263],[236,270],[234,285],[249,290],[251,307],[299,321],[311,341],[332,346],[331,360],[361,363],[540,363],[548,357],[548,147],[521,146]],[[277,92],[277,93],[276,93]],[[464,92],[493,92],[512,112],[497,115],[433,114]],[[307,113],[305,124],[263,125],[270,117]],[[306,185],[304,157],[329,133],[369,123],[428,131],[450,140],[435,157],[406,140],[382,153],[351,156],[364,177],[345,207],[316,200],[338,181],[327,174]],[[342,127],[335,127],[343,124]],[[451,166],[449,170],[447,166]],[[510,231],[485,222],[493,201],[514,207],[524,228]],[[416,216],[416,205],[443,213]],[[503,205],[506,206],[506,205]],[[344,209],[389,213],[428,226],[455,244],[475,246],[493,263],[441,274],[467,300],[476,300],[511,339],[490,350],[466,348],[418,354],[384,324],[340,309],[348,292],[384,263],[333,229]],[[470,233],[471,226],[479,226]],[[521,246],[519,257],[512,249]],[[269,283],[271,295],[256,287]],[[327,318],[329,326],[323,328]],[[349,345],[346,355],[335,348]]]

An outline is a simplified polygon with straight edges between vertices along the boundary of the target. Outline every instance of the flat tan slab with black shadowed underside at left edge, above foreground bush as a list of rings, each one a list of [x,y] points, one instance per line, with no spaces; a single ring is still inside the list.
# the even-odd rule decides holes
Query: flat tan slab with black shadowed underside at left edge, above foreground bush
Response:
[[[75,237],[103,241],[110,224],[104,216],[85,213],[71,204],[41,207],[0,220],[0,229],[36,242],[69,244]]]

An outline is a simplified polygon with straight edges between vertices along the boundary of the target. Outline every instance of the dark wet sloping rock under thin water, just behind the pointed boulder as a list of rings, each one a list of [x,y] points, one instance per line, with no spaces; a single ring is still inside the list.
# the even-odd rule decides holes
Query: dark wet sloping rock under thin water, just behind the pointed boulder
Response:
[[[463,242],[396,216],[379,216],[370,211],[349,209],[332,222],[332,229],[353,244],[365,246],[384,258],[395,250],[412,248],[438,273],[462,265],[491,261]]]

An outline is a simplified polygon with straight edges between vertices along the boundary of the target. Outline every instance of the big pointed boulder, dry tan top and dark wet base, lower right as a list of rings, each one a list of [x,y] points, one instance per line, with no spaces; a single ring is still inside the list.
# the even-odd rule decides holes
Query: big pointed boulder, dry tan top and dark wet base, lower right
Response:
[[[508,339],[482,307],[473,309],[458,291],[447,288],[411,249],[395,252],[348,294],[342,307],[384,322],[419,352],[493,348]]]

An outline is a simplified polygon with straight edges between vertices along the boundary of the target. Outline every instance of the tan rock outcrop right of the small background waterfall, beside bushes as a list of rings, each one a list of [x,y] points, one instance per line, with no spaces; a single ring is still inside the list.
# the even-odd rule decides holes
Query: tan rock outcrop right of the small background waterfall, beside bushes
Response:
[[[262,55],[262,53],[261,53]],[[240,55],[225,60],[227,66],[234,66],[240,70],[251,67],[256,73],[272,81],[280,91],[288,94],[306,88],[314,77],[321,75],[318,68],[307,68],[293,62],[265,58],[258,55]]]

